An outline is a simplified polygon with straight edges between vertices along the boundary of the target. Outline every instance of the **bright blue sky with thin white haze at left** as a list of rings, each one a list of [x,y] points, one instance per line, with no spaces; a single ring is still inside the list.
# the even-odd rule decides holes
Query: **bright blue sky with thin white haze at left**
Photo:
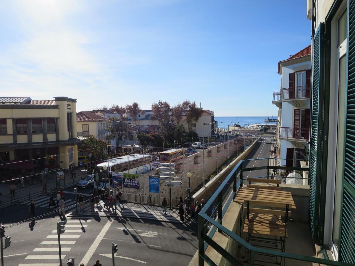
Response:
[[[277,62],[310,44],[311,22],[306,0],[14,0],[0,33],[0,96],[271,116]]]

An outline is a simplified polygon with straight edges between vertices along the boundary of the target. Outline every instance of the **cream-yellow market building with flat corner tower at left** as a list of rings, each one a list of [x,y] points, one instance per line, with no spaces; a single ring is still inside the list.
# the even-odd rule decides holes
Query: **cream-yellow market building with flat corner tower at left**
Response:
[[[76,99],[0,98],[1,162],[31,160],[43,168],[77,165]],[[33,159],[33,160],[32,160]]]

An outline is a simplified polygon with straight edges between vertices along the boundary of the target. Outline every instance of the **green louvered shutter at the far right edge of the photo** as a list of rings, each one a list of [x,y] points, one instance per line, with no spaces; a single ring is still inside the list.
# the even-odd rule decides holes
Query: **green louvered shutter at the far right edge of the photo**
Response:
[[[348,89],[339,257],[340,261],[355,264],[355,0],[348,1],[348,12]]]

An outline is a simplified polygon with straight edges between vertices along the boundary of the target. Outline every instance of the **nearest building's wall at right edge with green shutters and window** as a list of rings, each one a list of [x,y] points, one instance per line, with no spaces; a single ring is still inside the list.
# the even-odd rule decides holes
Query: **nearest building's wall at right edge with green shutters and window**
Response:
[[[355,1],[308,0],[313,240],[355,264]]]

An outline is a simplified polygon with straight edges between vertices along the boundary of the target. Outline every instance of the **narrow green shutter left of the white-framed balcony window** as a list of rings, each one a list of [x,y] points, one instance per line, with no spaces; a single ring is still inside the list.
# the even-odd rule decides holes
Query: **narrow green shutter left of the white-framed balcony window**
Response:
[[[310,207],[309,216],[313,241],[318,243],[320,174],[322,167],[321,135],[324,82],[324,24],[321,23],[313,37],[312,45],[312,102],[311,102],[311,138],[310,138]]]

